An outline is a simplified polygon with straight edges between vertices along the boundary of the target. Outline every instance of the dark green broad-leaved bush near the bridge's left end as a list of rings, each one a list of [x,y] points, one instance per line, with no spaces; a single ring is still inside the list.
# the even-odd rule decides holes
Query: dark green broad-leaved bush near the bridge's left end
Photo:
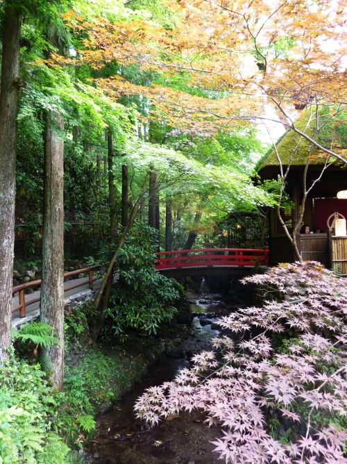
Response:
[[[119,283],[112,295],[112,330],[122,338],[126,329],[156,333],[162,322],[174,317],[178,290],[172,279],[154,269],[153,229],[137,227],[119,252]],[[108,326],[108,324],[105,324]]]

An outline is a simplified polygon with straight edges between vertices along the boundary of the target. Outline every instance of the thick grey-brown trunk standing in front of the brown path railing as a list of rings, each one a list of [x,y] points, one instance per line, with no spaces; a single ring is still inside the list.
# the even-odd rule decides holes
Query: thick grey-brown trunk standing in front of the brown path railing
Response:
[[[43,367],[62,390],[64,375],[64,122],[49,111],[44,140],[44,220],[40,317],[56,331],[60,343],[44,349]]]

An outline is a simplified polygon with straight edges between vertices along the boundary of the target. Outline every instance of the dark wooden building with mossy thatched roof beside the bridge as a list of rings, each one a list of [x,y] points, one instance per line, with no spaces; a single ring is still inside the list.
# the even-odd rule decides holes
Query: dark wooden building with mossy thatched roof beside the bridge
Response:
[[[307,111],[298,123],[297,125],[302,123],[303,126],[307,123]],[[339,213],[339,217],[347,219],[347,199],[337,199],[337,192],[347,190],[347,166],[336,158],[331,158],[328,159],[328,163],[331,164],[324,169],[327,161],[326,154],[312,147],[310,142],[294,131],[287,131],[277,142],[276,149],[278,155],[274,149],[269,151],[260,160],[257,172],[262,180],[277,179],[281,172],[280,160],[283,172],[289,166],[286,192],[291,199],[291,207],[281,210],[282,219],[287,224],[289,232],[297,224],[299,213],[301,213],[307,160],[306,190],[321,176],[321,179],[307,194],[302,222],[302,224],[308,224],[311,231],[319,229],[321,233],[298,235],[297,244],[301,256],[304,260],[316,260],[326,267],[337,268],[341,274],[347,274],[347,237],[337,238],[334,236],[335,231],[332,230],[332,237],[329,238],[331,234],[327,233],[328,219],[330,218],[329,224],[331,224],[334,213]],[[346,154],[343,144],[335,149],[337,152]],[[273,264],[296,260],[293,247],[274,210],[271,211],[269,217],[269,247],[270,262]]]

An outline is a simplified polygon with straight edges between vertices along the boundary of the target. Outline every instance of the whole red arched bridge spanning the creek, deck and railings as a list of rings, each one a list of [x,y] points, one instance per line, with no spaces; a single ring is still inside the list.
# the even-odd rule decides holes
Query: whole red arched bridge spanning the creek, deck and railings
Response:
[[[269,248],[205,248],[162,251],[156,254],[155,269],[167,277],[216,274],[244,275],[257,264],[269,263]]]

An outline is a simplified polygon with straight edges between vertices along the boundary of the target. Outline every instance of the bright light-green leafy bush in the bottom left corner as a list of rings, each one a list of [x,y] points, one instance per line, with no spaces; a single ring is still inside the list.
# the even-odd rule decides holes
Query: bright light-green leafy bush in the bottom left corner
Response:
[[[51,388],[37,365],[12,358],[0,369],[0,463],[67,463],[69,448],[51,431]]]

